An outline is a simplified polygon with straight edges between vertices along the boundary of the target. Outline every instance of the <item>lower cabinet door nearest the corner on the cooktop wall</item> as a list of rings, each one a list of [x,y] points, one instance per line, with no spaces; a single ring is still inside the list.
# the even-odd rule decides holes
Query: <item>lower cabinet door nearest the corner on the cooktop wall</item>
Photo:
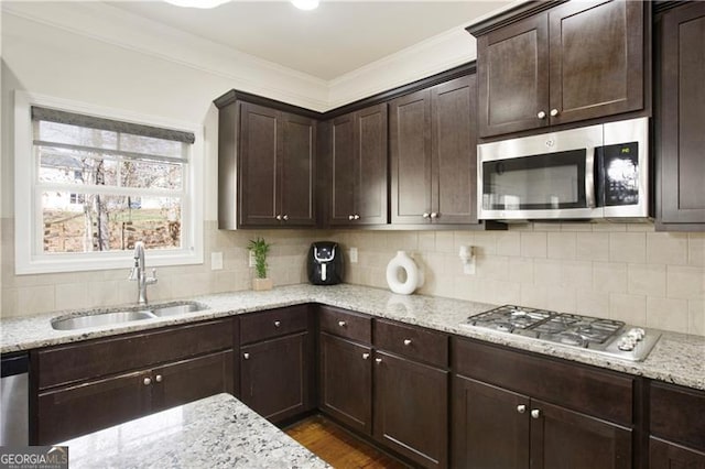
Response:
[[[327,334],[319,337],[321,410],[351,428],[371,434],[371,349]]]

